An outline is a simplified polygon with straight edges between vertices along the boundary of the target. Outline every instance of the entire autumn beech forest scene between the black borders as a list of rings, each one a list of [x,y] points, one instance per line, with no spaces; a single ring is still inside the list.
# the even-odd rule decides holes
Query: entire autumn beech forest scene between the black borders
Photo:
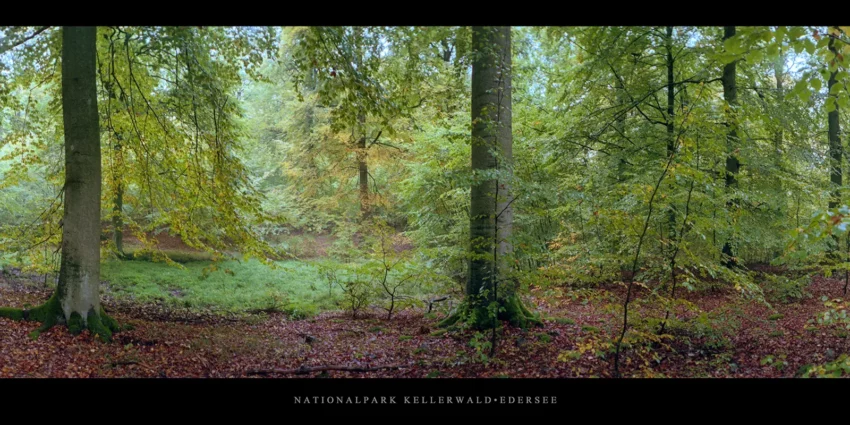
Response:
[[[847,54],[0,27],[0,377],[848,377]]]

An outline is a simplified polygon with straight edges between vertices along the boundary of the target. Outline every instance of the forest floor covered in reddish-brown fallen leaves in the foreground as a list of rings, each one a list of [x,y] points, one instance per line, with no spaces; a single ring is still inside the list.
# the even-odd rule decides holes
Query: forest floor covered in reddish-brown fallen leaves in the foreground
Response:
[[[698,307],[689,311],[703,313],[680,308],[680,320],[668,327],[675,338],[654,345],[633,341],[624,351],[622,374],[799,376],[805,365],[847,352],[846,333],[808,324],[824,310],[822,297],[840,296],[842,286],[816,277],[810,297],[773,307],[744,300],[731,289],[686,292],[684,298]],[[641,292],[645,297],[648,291]],[[49,295],[38,283],[0,278],[0,305],[36,305]],[[493,358],[482,355],[486,347],[470,344],[489,341],[490,333],[476,338],[471,331],[436,330],[441,314],[408,310],[390,320],[378,312],[357,319],[343,312],[304,320],[283,314],[228,317],[105,297],[107,311],[132,325],[111,344],[87,331],[73,336],[64,327],[33,340],[28,334],[37,323],[0,318],[0,377],[610,377],[610,341],[621,326],[616,306],[623,295],[619,286],[533,289],[528,302],[544,313],[545,327],[500,330]],[[630,335],[640,335],[641,323],[663,316],[657,307],[641,307],[641,299],[639,293],[630,316],[636,331]],[[392,368],[292,373],[303,366]],[[274,371],[280,369],[289,373]]]

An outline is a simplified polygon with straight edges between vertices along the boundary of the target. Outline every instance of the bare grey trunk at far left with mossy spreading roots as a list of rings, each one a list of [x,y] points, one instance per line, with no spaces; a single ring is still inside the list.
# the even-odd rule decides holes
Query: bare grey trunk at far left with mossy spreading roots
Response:
[[[100,305],[100,129],[95,81],[96,27],[62,29],[65,209],[56,292],[41,306],[2,309],[0,316],[89,329],[109,340],[117,324]]]

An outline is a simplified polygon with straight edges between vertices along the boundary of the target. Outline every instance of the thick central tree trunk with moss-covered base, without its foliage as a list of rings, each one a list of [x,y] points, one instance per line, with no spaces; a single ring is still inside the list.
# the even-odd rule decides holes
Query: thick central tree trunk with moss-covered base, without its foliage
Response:
[[[472,47],[472,170],[470,264],[466,302],[458,314],[476,328],[491,328],[497,320],[527,326],[537,321],[516,295],[515,285],[503,281],[513,212],[511,202],[511,36],[510,27],[473,27]],[[489,305],[497,303],[497,316]]]

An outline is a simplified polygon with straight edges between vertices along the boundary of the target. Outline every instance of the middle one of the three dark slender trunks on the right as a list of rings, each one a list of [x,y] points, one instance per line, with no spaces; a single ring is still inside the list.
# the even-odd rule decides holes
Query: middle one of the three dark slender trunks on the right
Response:
[[[735,27],[723,27],[723,40],[728,40],[735,36]],[[738,105],[738,86],[735,81],[736,63],[735,61],[726,64],[723,67],[723,99],[726,100],[728,108],[726,114],[726,125],[729,130],[726,133],[726,189],[735,190],[738,187],[738,131],[735,109]],[[726,207],[729,213],[732,214],[736,208],[737,202],[730,200]],[[732,238],[731,236],[729,237]],[[727,267],[733,267],[737,264],[735,252],[732,249],[732,242],[727,239],[723,244],[723,263]]]

